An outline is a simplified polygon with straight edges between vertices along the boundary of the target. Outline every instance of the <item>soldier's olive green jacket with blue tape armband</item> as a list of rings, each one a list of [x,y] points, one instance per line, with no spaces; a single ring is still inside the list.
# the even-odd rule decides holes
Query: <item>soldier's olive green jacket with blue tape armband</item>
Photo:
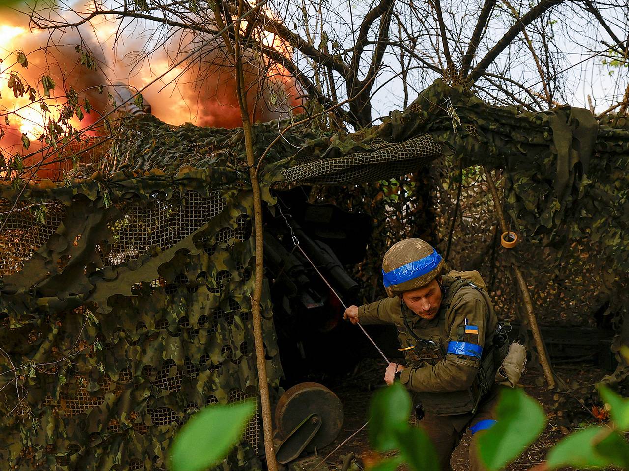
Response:
[[[448,295],[448,288],[455,278],[469,279],[477,288],[465,285],[454,295]],[[400,381],[417,393],[467,389],[481,365],[482,350],[491,347],[498,323],[486,286],[477,271],[451,271],[443,276],[442,283],[445,293],[439,312],[432,320],[418,317],[404,304],[401,296],[369,303],[358,310],[362,324],[395,325],[400,350],[406,360]],[[417,337],[440,345],[445,357],[439,359],[431,354],[431,350],[423,349],[407,325]]]

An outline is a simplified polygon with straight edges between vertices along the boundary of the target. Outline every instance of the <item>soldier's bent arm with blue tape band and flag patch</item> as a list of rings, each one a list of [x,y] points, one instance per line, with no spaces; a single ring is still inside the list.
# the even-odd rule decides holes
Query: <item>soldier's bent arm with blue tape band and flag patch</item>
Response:
[[[467,389],[481,365],[485,344],[487,305],[473,288],[461,288],[465,293],[455,296],[450,335],[445,359],[435,365],[407,367],[400,382],[418,393],[447,393]],[[467,319],[467,325],[465,320]]]

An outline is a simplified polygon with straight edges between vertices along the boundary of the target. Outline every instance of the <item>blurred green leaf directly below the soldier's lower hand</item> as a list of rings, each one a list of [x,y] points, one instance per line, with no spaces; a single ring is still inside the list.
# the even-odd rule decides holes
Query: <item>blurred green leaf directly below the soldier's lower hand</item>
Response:
[[[374,394],[369,406],[369,441],[377,451],[398,447],[396,433],[408,427],[410,413],[411,397],[398,382]]]

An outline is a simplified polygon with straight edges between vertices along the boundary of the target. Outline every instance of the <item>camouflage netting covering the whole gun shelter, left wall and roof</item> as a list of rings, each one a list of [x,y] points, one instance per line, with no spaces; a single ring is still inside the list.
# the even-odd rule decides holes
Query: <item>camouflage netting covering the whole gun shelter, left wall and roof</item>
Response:
[[[608,274],[622,311],[627,128],[569,107],[539,114],[489,107],[437,82],[406,111],[357,134],[291,129],[267,154],[263,193],[272,204],[269,188],[281,180],[384,180],[444,154],[464,166],[499,168],[505,207],[527,247],[592,244],[597,273]],[[277,132],[277,122],[255,126],[258,155]],[[194,410],[257,395],[243,154],[242,130],[139,117],[114,136],[102,161],[72,178],[0,187],[3,462],[161,468]],[[523,255],[510,252],[508,263],[524,263]],[[281,367],[266,286],[263,315],[277,393]],[[618,335],[616,350],[622,342]],[[616,381],[626,374],[621,364]],[[256,415],[226,466],[257,467],[259,434]]]

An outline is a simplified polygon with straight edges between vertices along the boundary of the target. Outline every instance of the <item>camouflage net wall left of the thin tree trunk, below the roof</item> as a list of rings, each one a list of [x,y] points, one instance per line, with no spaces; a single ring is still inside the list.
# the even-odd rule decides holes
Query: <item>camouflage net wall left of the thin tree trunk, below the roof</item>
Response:
[[[0,241],[4,463],[163,468],[190,414],[257,397],[253,204],[231,173],[119,172],[27,188]],[[14,197],[6,187],[3,196],[6,214]],[[263,330],[276,388],[268,299]],[[259,466],[260,430],[256,413],[228,467]]]

